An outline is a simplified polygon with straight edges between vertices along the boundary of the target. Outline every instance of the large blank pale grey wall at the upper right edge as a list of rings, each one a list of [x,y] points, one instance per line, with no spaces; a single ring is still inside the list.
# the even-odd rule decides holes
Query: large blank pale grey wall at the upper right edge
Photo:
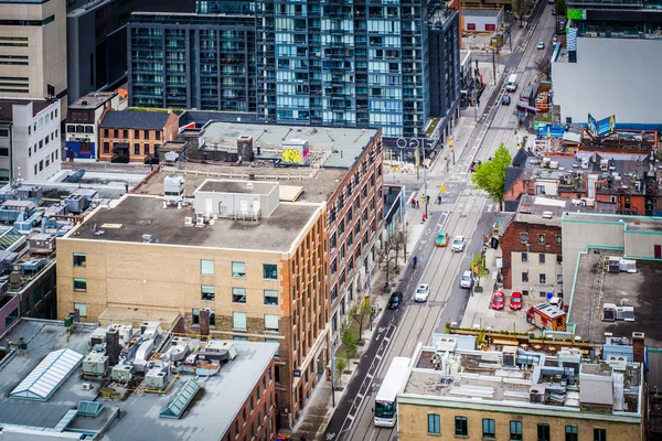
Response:
[[[617,123],[660,123],[662,45],[652,40],[577,37],[577,63],[552,64],[560,120],[586,123],[616,115]]]

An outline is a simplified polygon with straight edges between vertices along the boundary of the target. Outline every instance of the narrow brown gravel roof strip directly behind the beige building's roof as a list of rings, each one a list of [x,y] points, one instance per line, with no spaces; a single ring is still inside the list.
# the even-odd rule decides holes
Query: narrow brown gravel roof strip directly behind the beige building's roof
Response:
[[[184,191],[188,195],[200,187],[209,179],[236,179],[246,185],[249,173],[254,173],[256,181],[259,179],[278,181],[280,185],[302,186],[303,192],[297,202],[321,203],[329,200],[335,191],[346,170],[321,169],[313,173],[309,169],[253,169],[244,166],[217,165],[217,164],[186,164],[183,170],[174,172],[184,176]],[[131,191],[134,194],[163,195],[163,180],[173,174],[172,170],[159,171],[150,175],[139,187]]]

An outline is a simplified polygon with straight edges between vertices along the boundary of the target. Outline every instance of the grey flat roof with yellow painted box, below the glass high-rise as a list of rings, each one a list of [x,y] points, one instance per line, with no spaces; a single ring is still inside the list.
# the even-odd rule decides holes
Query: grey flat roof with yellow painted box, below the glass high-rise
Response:
[[[351,168],[372,139],[377,129],[346,129],[331,127],[289,127],[259,123],[210,121],[204,126],[204,138],[220,147],[236,149],[237,138],[253,137],[253,146],[265,150],[281,150],[291,139],[303,139],[312,152],[332,152],[324,161],[324,168]]]

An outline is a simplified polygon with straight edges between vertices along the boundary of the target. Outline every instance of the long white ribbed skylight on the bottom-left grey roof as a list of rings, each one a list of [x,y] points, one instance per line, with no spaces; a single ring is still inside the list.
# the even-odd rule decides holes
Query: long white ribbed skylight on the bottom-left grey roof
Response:
[[[72,349],[53,351],[17,386],[10,397],[46,401],[81,364],[83,355]]]

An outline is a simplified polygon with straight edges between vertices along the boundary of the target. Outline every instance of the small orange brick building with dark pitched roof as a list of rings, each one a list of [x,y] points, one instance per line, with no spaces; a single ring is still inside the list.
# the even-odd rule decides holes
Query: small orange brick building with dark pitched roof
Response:
[[[99,123],[99,159],[158,163],[161,144],[177,137],[179,117],[169,110],[107,111]]]

